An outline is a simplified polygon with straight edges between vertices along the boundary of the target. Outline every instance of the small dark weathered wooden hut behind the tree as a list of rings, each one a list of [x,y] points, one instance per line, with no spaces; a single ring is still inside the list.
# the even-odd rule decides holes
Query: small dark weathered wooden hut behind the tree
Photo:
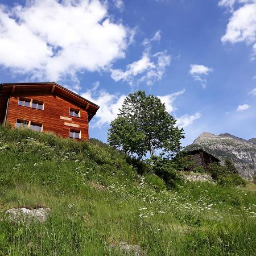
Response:
[[[203,166],[204,168],[206,168],[209,163],[221,162],[220,159],[209,154],[207,151],[203,149],[188,151],[187,154],[193,157],[195,164],[192,168],[195,168],[197,166]]]

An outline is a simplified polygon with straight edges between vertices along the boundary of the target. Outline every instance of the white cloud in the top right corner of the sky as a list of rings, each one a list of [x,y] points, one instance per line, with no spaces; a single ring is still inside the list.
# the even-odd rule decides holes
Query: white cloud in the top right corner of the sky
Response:
[[[232,16],[226,26],[226,33],[222,36],[222,43],[245,42],[252,45],[253,54],[256,54],[256,1],[240,0],[237,10],[232,5]],[[220,4],[220,3],[219,3]]]

